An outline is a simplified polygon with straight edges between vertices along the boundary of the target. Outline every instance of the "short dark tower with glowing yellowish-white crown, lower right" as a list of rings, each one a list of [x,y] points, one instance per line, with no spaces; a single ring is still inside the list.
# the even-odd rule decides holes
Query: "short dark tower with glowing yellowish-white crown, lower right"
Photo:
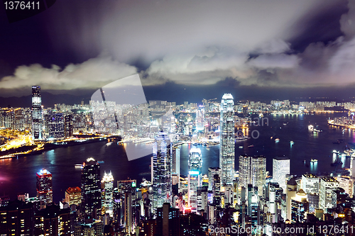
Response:
[[[308,201],[305,191],[300,189],[296,196],[291,199],[291,222],[303,223],[305,221],[305,213],[308,210]]]

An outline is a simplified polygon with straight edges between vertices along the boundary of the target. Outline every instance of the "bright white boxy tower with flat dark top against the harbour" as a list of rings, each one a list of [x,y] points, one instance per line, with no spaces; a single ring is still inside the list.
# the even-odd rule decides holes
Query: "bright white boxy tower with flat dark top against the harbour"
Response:
[[[286,174],[290,174],[290,159],[288,157],[273,158],[273,181],[280,184],[284,193],[286,191]]]

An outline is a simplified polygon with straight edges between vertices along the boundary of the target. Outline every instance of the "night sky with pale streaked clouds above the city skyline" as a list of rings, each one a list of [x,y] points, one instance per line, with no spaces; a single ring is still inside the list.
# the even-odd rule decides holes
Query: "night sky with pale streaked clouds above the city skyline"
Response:
[[[0,32],[0,96],[132,74],[157,89],[355,88],[352,0],[57,1],[16,23],[0,9]]]

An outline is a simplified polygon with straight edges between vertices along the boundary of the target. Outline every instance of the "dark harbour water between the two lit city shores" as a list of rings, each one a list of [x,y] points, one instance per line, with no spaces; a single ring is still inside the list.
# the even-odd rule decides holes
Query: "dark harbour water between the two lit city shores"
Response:
[[[340,159],[343,164],[332,167],[330,164],[337,158],[333,150],[343,152],[346,145],[355,142],[354,130],[333,128],[327,125],[327,118],[344,116],[344,113],[315,114],[315,115],[268,115],[263,124],[256,122],[249,130],[244,130],[250,138],[236,142],[236,170],[240,154],[264,155],[267,158],[267,171],[272,174],[272,159],[278,155],[285,155],[291,159],[291,174],[300,175],[305,172],[326,174],[336,169],[349,167],[349,158]],[[257,120],[258,116],[253,117]],[[266,118],[268,120],[266,120]],[[268,121],[268,124],[266,123]],[[322,133],[313,133],[308,125],[319,125]],[[253,133],[253,138],[251,134]],[[280,141],[275,142],[278,138]],[[334,144],[337,140],[343,140]],[[290,144],[293,141],[293,145]],[[152,144],[133,144],[137,148],[151,148]],[[144,146],[142,146],[144,145]],[[253,145],[253,147],[249,147]],[[148,146],[148,147],[147,147]],[[239,147],[242,148],[239,148]],[[193,145],[180,145],[180,172],[187,174],[187,161],[190,148]],[[198,146],[202,150],[202,171],[207,174],[208,167],[219,166],[219,145],[209,147]],[[65,197],[65,189],[70,186],[80,186],[80,168],[75,164],[82,164],[88,157],[94,157],[100,163],[102,176],[104,171],[111,171],[115,180],[151,179],[151,157],[143,157],[129,161],[124,151],[124,145],[106,141],[72,147],[60,147],[42,154],[28,157],[0,160],[0,196],[9,195],[15,199],[20,192],[35,196],[35,173],[40,169],[48,169],[53,174],[53,200],[58,202]],[[310,162],[317,159],[318,162]],[[338,158],[339,160],[339,158]],[[116,185],[116,184],[115,184]]]

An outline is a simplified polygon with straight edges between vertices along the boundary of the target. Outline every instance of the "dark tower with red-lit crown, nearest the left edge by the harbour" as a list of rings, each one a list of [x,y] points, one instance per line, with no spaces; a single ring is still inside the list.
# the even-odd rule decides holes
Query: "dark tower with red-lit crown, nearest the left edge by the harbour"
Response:
[[[45,208],[45,205],[53,202],[53,185],[52,174],[46,169],[41,169],[37,172],[37,197],[40,199],[40,208]]]

